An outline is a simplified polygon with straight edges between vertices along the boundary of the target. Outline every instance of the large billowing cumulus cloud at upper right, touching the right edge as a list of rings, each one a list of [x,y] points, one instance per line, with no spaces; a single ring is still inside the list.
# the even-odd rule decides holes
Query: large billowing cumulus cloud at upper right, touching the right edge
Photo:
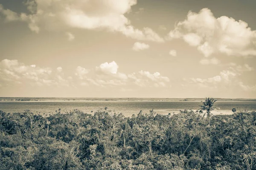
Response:
[[[256,56],[256,31],[242,20],[227,16],[215,18],[208,8],[189,11],[187,18],[170,31],[167,39],[183,39],[198,48],[205,57],[212,54]]]

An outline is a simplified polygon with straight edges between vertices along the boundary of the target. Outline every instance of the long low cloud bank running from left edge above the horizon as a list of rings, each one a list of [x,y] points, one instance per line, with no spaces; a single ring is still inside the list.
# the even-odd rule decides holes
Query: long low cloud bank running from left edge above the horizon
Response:
[[[118,71],[119,66],[115,61],[105,62],[95,69],[87,69],[78,66],[71,73],[72,76],[65,76],[62,67],[51,69],[35,65],[25,65],[18,60],[4,59],[0,62],[0,84],[2,86],[93,86],[99,88],[116,87],[120,88],[165,88],[170,87],[168,77],[162,76],[159,72],[139,71],[137,73],[125,74]],[[70,74],[70,72],[69,72]]]

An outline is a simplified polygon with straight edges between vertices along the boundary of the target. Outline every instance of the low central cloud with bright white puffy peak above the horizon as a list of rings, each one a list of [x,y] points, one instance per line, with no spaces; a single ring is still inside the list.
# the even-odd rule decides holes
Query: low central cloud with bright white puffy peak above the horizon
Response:
[[[139,71],[137,73],[125,74],[118,71],[119,66],[115,61],[105,62],[91,70],[90,73],[84,76],[82,81],[88,85],[99,87],[166,87],[166,83],[170,80],[168,77],[163,77],[159,72],[151,74],[149,71]]]

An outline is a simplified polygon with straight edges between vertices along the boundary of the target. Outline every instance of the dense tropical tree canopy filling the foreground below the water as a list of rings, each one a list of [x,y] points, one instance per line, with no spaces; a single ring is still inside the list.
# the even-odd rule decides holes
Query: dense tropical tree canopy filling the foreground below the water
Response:
[[[256,112],[0,111],[0,122],[1,170],[256,170]]]

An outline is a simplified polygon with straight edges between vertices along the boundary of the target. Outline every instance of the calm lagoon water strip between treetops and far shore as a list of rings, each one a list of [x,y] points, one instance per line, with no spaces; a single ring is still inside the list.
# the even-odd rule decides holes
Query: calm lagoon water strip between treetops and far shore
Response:
[[[33,113],[55,113],[61,108],[61,112],[78,109],[85,113],[95,112],[100,108],[108,107],[108,110],[123,113],[125,116],[138,114],[140,111],[149,113],[154,108],[159,114],[178,113],[180,110],[196,110],[201,105],[197,101],[0,101],[0,110],[8,113],[30,110]],[[230,114],[232,108],[237,111],[256,111],[256,102],[245,101],[217,101],[215,114]]]

